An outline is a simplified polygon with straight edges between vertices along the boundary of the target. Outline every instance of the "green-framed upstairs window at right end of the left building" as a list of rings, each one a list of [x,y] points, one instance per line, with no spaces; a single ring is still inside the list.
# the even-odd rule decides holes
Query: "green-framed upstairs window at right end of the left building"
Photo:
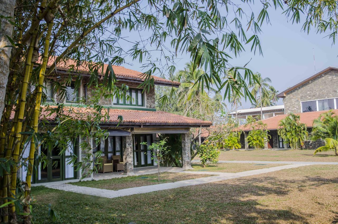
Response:
[[[144,106],[144,93],[142,89],[129,88],[128,96],[116,97],[114,96],[113,105],[124,106]]]

